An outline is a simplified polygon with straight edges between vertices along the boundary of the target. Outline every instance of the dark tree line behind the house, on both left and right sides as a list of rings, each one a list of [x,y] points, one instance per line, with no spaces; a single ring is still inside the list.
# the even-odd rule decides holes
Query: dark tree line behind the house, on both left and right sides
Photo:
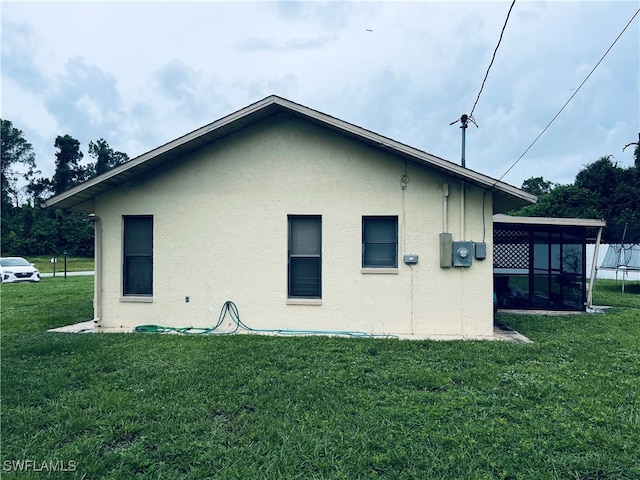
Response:
[[[60,210],[42,209],[42,201],[58,195],[129,160],[103,138],[89,142],[89,162],[83,162],[80,142],[59,135],[55,172],[42,177],[32,145],[9,120],[2,122],[2,255],[93,256],[93,226]],[[572,184],[560,185],[543,177],[525,180],[523,190],[538,195],[538,203],[509,212],[534,217],[605,219],[603,241],[640,243],[640,142],[634,165],[621,167],[612,156],[582,168]]]

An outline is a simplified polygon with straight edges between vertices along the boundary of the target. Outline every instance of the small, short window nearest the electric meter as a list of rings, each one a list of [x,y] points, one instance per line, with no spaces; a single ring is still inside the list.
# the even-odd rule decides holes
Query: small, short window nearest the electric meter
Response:
[[[362,266],[398,266],[398,217],[362,217]]]

